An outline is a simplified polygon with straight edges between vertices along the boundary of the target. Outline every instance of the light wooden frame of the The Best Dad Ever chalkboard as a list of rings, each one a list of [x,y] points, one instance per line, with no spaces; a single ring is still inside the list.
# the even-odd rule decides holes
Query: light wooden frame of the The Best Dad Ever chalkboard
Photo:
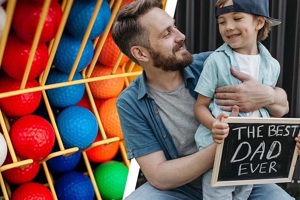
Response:
[[[249,117],[228,117],[222,118],[222,123],[262,123],[262,124],[300,124],[300,118],[249,118]],[[300,132],[300,131],[299,131]],[[298,133],[299,134],[299,133]],[[297,137],[298,134],[294,134]],[[289,175],[286,178],[275,179],[253,179],[253,180],[235,180],[235,181],[218,181],[219,168],[222,158],[223,144],[218,144],[216,149],[216,157],[214,168],[212,172],[211,186],[230,186],[230,185],[248,185],[248,184],[262,184],[262,183],[283,183],[291,182],[294,173],[294,168],[298,156],[298,146],[295,145],[294,154],[291,162]]]

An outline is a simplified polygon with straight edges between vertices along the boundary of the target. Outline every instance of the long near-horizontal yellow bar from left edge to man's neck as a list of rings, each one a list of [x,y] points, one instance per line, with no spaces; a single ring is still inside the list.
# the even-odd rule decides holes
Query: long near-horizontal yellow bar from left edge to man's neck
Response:
[[[8,96],[15,96],[15,95],[19,95],[19,94],[28,93],[28,92],[36,92],[36,91],[41,91],[41,90],[46,90],[46,89],[53,89],[53,88],[64,87],[64,86],[69,86],[69,85],[76,85],[76,84],[87,83],[87,82],[92,82],[92,81],[101,81],[101,80],[106,80],[106,79],[110,79],[110,78],[120,78],[120,77],[126,77],[126,76],[137,76],[137,75],[140,75],[140,74],[142,74],[141,71],[122,73],[122,74],[112,74],[112,75],[106,75],[106,76],[85,78],[85,79],[80,79],[80,80],[75,80],[75,81],[54,83],[54,84],[51,84],[51,85],[43,85],[43,86],[38,86],[38,87],[34,87],[34,88],[26,88],[26,89],[23,89],[23,90],[14,90],[14,91],[9,91],[9,92],[2,92],[2,93],[0,93],[0,99],[4,98],[4,97],[8,97]]]

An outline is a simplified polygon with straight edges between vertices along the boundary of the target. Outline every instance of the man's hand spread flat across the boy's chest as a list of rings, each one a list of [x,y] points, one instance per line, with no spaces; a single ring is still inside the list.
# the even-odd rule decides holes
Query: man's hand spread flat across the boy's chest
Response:
[[[239,111],[249,112],[274,103],[272,97],[275,96],[275,92],[272,87],[261,84],[251,75],[240,72],[233,66],[231,73],[243,83],[216,88],[214,97],[223,99],[216,100],[216,104],[222,105],[220,109],[231,111],[232,107],[237,105]]]

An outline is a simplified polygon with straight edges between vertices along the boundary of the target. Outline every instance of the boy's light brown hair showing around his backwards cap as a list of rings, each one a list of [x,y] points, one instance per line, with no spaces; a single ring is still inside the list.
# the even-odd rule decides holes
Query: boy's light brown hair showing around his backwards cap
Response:
[[[229,0],[217,0],[216,2],[216,8],[219,9],[221,8],[226,2]],[[250,13],[252,14],[252,13]],[[260,15],[252,14],[253,19],[258,21],[258,17]],[[267,17],[261,16],[264,19],[264,26],[258,30],[257,38],[256,40],[265,40],[268,37],[269,32],[272,30],[272,28],[269,25],[270,20]]]

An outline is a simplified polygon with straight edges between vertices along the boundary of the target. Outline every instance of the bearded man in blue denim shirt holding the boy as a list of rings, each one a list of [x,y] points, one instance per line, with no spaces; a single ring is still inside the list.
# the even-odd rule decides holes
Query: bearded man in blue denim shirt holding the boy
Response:
[[[116,102],[128,159],[136,158],[148,180],[126,199],[202,199],[201,175],[213,166],[216,144],[197,151],[194,88],[211,52],[192,56],[186,50],[185,36],[160,0],[137,0],[120,9],[112,36],[144,69]],[[216,89],[215,98],[224,99],[217,102],[223,110],[237,105],[232,116],[261,107],[275,117],[288,112],[283,89],[231,71],[243,83]],[[293,198],[276,184],[261,184],[249,199]]]

